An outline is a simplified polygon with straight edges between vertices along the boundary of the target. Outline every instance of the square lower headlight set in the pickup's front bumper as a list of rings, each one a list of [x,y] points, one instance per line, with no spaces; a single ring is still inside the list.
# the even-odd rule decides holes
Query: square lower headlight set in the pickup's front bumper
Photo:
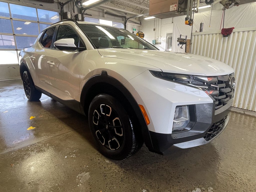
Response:
[[[188,105],[177,106],[173,119],[173,131],[186,128],[190,122]]]

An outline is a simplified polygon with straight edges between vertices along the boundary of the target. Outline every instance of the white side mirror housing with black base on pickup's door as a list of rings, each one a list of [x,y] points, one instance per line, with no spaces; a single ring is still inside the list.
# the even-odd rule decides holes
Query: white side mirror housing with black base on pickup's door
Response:
[[[61,51],[83,51],[86,50],[84,47],[77,47],[73,38],[59,39],[54,42],[54,46]]]

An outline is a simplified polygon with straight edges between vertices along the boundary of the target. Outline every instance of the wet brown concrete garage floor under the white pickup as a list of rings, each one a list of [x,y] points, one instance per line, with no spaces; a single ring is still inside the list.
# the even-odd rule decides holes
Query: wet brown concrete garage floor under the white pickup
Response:
[[[0,120],[0,191],[256,191],[253,116],[231,112],[211,144],[168,156],[143,146],[124,161],[95,150],[86,117],[45,95],[29,102],[21,80],[0,82]]]

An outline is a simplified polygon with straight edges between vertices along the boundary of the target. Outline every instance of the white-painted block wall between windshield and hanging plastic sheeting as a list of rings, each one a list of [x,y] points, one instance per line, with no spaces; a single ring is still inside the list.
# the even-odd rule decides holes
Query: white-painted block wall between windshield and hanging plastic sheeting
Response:
[[[153,29],[155,29],[155,31]],[[152,40],[156,40],[156,42],[160,42],[161,44],[157,44],[155,46],[160,50],[165,50],[166,34],[173,33],[173,18],[143,19],[140,31],[145,34],[144,39],[146,41],[152,43]]]

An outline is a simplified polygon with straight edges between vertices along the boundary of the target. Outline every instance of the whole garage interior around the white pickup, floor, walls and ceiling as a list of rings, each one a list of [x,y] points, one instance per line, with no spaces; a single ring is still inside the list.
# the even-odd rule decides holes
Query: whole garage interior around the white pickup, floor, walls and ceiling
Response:
[[[164,1],[89,1],[0,0],[0,191],[256,191],[256,1],[195,1],[189,19],[182,11],[187,0],[175,13],[156,3]],[[169,155],[143,145],[122,161],[104,157],[86,116],[44,94],[28,101],[20,78],[20,50],[68,18],[231,66],[236,92],[227,128],[207,145]],[[224,37],[221,29],[232,27]]]

